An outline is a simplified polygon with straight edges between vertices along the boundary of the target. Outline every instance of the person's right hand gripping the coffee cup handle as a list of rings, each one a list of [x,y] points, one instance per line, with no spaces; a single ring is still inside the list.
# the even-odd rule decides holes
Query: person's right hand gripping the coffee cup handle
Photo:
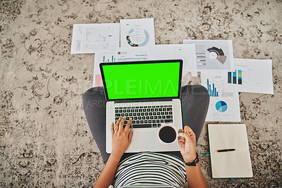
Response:
[[[196,135],[188,126],[184,127],[184,132],[179,133],[178,145],[180,153],[185,162],[192,162],[197,157],[196,155]]]

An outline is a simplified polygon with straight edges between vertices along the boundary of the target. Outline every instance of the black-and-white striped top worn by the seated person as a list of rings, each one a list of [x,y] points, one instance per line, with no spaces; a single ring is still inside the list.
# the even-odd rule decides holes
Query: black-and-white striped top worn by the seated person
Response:
[[[138,153],[121,161],[114,187],[182,187],[185,166],[180,158],[162,153]]]

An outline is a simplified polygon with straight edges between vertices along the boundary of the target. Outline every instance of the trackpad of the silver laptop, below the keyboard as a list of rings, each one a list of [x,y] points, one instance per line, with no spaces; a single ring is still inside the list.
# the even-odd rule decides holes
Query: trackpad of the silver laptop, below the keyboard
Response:
[[[133,136],[134,136],[133,148],[135,149],[156,148],[156,133],[135,132]]]

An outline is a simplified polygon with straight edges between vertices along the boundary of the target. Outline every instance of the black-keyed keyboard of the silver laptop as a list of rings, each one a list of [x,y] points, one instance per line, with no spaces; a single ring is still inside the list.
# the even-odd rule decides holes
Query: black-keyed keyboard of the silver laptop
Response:
[[[157,128],[161,123],[172,123],[172,105],[115,107],[115,120],[126,117],[123,127],[130,117],[133,119],[130,128]]]

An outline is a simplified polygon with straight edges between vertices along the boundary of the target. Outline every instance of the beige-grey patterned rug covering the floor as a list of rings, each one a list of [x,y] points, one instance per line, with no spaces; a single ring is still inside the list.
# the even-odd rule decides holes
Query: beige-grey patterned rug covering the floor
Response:
[[[211,187],[281,187],[282,2],[1,1],[0,187],[91,186],[103,168],[82,110],[93,54],[71,55],[74,23],[154,18],[157,44],[231,39],[236,58],[273,59],[274,95],[240,93],[254,177]],[[197,83],[193,79],[191,83]],[[207,127],[197,151],[208,152]]]

